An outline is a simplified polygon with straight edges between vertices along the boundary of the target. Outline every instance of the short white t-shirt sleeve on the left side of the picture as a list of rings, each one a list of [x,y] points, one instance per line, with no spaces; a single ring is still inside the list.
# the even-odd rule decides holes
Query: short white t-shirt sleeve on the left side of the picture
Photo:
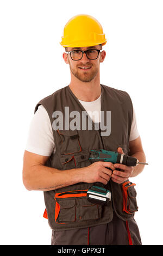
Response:
[[[55,151],[51,121],[46,109],[40,105],[29,126],[26,150],[42,156]]]

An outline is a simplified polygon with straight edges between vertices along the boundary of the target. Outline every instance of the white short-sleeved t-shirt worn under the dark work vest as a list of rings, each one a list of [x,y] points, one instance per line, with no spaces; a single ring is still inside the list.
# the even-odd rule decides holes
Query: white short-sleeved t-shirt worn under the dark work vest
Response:
[[[101,96],[95,101],[79,101],[90,115],[93,122],[99,123],[101,119]],[[93,112],[96,112],[96,114],[92,115]],[[134,111],[129,141],[133,141],[138,137],[139,131],[137,130],[136,115]],[[42,105],[38,107],[30,123],[26,150],[42,156],[50,156],[52,153],[55,153],[51,121],[46,109]]]

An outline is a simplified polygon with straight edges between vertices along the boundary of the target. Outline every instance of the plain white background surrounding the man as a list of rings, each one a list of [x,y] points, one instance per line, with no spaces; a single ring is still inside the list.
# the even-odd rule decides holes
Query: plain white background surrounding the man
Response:
[[[43,192],[22,183],[37,102],[70,82],[60,46],[66,22],[89,14],[103,26],[101,83],[129,93],[148,166],[136,183],[143,245],[162,245],[162,1],[0,1],[1,245],[50,245]]]

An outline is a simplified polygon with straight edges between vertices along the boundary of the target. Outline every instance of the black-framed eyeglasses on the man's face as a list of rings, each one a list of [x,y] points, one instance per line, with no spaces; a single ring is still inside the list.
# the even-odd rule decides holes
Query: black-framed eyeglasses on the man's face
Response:
[[[86,57],[88,59],[97,59],[99,52],[102,52],[102,50],[97,50],[97,49],[89,49],[86,51],[82,50],[73,50],[70,52],[66,52],[67,54],[70,54],[72,60],[80,60],[83,58],[83,53],[85,52]]]

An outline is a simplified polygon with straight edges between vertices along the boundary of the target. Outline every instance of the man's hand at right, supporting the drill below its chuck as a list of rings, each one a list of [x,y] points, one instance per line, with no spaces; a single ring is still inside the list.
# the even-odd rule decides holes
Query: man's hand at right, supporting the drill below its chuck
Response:
[[[117,152],[124,155],[122,148],[118,148]],[[111,175],[111,180],[118,184],[123,183],[133,174],[133,170],[134,170],[133,166],[126,166],[124,164],[115,163],[114,167],[122,170],[122,171],[114,170]]]

